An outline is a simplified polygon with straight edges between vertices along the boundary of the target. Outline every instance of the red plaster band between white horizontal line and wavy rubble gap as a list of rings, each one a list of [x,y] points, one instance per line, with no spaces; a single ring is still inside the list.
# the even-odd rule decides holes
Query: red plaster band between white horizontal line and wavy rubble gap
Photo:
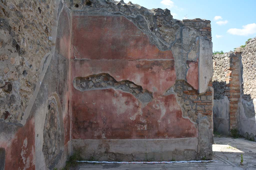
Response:
[[[174,60],[71,60],[71,80],[108,73],[116,81],[129,80],[143,89],[164,94],[176,81]]]

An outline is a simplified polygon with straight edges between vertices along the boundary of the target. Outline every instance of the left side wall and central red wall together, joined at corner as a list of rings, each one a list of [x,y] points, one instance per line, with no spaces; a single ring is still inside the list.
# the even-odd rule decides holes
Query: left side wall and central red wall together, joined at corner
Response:
[[[97,160],[212,158],[209,20],[111,0],[1,6],[5,169],[63,167],[80,148]]]

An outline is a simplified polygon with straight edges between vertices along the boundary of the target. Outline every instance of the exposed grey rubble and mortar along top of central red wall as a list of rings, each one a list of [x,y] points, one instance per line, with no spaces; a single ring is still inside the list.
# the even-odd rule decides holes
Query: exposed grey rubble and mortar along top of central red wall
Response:
[[[124,16],[146,34],[150,42],[155,44],[159,50],[172,50],[177,80],[186,80],[186,60],[196,61],[199,57],[199,50],[204,52],[204,49],[199,49],[199,39],[211,40],[209,20],[196,18],[181,21],[174,19],[168,9],[150,10],[132,3],[95,0],[92,1],[91,6],[81,3],[78,4],[79,8],[75,8],[73,6],[76,3],[77,1],[70,1],[70,7],[76,15],[95,15],[95,11],[97,11],[97,15]],[[82,11],[86,11],[86,13]],[[208,47],[206,52],[207,50]],[[211,47],[210,50],[212,50]],[[209,56],[211,57],[212,54],[209,53]],[[202,62],[204,63],[204,61]],[[208,75],[201,77],[209,78]],[[208,83],[206,81],[206,84]],[[203,86],[202,81],[201,86]],[[203,93],[201,92],[203,90],[205,89],[200,90],[200,93]]]

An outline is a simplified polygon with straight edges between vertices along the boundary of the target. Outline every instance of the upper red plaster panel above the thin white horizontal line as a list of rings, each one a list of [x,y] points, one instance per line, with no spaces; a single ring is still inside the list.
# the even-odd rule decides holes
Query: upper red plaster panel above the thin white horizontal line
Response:
[[[72,22],[73,58],[173,59],[123,16],[73,16]]]

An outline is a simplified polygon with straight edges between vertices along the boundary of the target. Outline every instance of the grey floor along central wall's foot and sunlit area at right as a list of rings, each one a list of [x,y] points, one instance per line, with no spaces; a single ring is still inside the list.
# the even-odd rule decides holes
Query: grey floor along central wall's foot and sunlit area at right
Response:
[[[76,170],[256,170],[256,142],[244,139],[215,138],[213,145],[213,159],[218,162],[212,163],[175,163],[175,164],[89,164],[83,163]],[[240,165],[241,154],[243,154],[243,165]],[[73,169],[73,168],[72,168]]]

